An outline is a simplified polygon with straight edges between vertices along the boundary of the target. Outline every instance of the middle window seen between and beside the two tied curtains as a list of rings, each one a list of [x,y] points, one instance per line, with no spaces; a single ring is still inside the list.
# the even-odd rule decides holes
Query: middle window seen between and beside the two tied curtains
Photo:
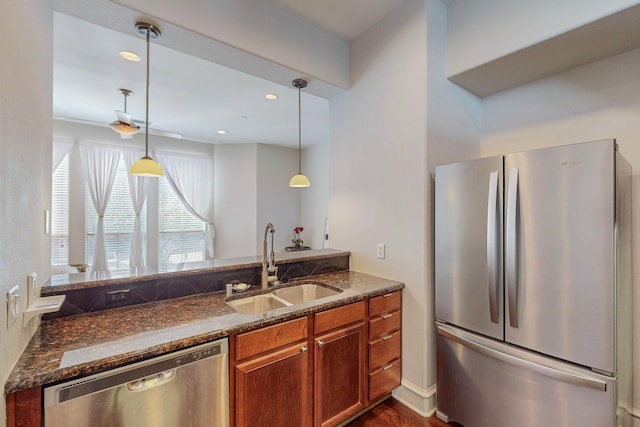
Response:
[[[104,241],[107,252],[107,265],[109,270],[128,270],[129,253],[131,250],[131,236],[133,235],[133,223],[135,221],[135,211],[131,203],[129,194],[129,182],[127,174],[129,171],[124,160],[120,157],[118,162],[118,172],[113,183],[109,203],[104,215]],[[140,214],[140,226],[143,234],[143,250],[145,248],[146,230],[146,203]],[[98,225],[98,215],[89,189],[85,188],[85,212],[86,212],[86,242],[85,259],[87,264],[93,263],[93,253],[95,251],[96,228]]]

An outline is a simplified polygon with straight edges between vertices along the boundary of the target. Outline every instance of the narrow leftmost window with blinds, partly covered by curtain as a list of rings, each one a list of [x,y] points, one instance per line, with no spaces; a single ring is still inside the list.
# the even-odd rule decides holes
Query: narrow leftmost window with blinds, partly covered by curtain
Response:
[[[69,264],[69,154],[51,180],[51,265]]]

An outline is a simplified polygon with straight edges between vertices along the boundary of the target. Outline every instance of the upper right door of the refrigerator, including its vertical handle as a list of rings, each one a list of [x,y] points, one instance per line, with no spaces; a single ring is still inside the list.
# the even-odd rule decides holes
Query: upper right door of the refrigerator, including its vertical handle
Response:
[[[508,342],[615,372],[614,141],[505,156]]]

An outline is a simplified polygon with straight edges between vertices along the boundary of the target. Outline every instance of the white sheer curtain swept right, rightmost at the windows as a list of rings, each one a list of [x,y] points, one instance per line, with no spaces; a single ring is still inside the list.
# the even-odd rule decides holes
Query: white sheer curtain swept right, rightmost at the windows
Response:
[[[207,259],[214,255],[213,159],[207,156],[155,152],[167,182],[189,212],[206,224],[204,247]]]

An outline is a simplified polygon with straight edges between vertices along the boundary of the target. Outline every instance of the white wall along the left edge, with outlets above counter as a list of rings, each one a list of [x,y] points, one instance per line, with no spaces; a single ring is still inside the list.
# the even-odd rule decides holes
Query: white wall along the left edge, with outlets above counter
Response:
[[[29,23],[29,31],[24,24]],[[50,272],[51,239],[44,210],[51,206],[51,91],[53,15],[49,1],[4,2],[0,13],[0,384],[4,384],[35,330],[22,320],[7,326],[4,298],[20,286],[24,311],[27,275]],[[0,422],[6,418],[0,402]]]

